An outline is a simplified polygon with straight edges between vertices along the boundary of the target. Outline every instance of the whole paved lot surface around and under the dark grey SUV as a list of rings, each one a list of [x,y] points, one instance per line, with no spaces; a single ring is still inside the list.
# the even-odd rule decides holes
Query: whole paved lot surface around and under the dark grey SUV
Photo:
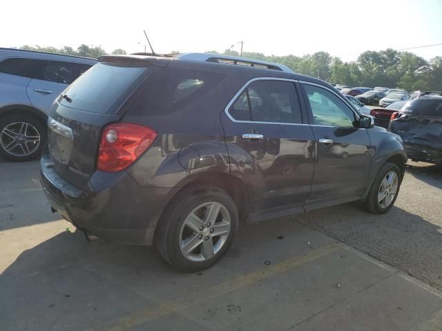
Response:
[[[204,272],[86,241],[50,212],[38,162],[0,160],[0,330],[441,330],[441,168],[409,163],[396,206],[242,224]],[[438,290],[439,288],[439,290]]]

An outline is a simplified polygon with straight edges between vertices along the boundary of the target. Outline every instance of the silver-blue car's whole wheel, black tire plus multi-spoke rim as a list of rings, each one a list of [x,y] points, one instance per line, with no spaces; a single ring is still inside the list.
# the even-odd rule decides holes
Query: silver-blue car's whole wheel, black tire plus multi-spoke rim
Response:
[[[46,126],[37,117],[10,114],[0,119],[0,154],[10,161],[38,157],[46,140]]]

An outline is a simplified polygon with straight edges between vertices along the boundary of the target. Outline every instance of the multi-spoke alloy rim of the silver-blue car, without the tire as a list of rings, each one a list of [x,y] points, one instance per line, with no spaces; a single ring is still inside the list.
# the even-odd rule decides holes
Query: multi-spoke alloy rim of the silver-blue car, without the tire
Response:
[[[0,132],[0,145],[8,154],[27,157],[39,148],[40,134],[30,123],[10,123]]]

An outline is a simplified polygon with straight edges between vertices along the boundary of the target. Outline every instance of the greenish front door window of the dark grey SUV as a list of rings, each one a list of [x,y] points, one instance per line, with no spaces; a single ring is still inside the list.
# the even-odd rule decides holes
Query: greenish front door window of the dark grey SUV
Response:
[[[354,112],[335,94],[318,86],[304,85],[314,124],[323,126],[353,126]]]

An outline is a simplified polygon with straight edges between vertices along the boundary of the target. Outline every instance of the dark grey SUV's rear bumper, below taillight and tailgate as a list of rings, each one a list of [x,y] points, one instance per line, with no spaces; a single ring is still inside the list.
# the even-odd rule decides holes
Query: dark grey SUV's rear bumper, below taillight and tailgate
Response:
[[[40,162],[41,186],[55,210],[81,230],[122,243],[151,245],[162,210],[178,190],[144,188],[126,172],[95,172],[90,189],[81,190],[48,165],[47,154]],[[92,189],[104,181],[106,188]]]

